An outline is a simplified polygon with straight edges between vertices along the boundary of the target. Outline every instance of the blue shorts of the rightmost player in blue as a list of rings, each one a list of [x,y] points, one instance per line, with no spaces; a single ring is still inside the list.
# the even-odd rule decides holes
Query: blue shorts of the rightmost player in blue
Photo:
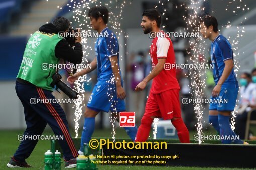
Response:
[[[223,84],[219,96],[211,97],[209,110],[234,111],[238,90],[237,83],[231,85]]]

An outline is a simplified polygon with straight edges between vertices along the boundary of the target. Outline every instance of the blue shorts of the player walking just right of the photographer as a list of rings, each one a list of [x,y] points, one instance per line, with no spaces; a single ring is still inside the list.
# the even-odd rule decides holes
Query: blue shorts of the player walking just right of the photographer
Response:
[[[121,112],[125,111],[125,102],[117,98],[115,84],[107,83],[106,81],[98,81],[91,96],[87,107],[94,111],[104,112]]]

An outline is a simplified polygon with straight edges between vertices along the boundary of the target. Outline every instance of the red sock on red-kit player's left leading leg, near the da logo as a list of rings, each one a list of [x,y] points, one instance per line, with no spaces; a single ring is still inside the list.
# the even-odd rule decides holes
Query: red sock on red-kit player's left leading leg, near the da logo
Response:
[[[138,128],[138,132],[135,137],[135,142],[147,141],[153,119],[149,116],[143,116],[141,125]]]

